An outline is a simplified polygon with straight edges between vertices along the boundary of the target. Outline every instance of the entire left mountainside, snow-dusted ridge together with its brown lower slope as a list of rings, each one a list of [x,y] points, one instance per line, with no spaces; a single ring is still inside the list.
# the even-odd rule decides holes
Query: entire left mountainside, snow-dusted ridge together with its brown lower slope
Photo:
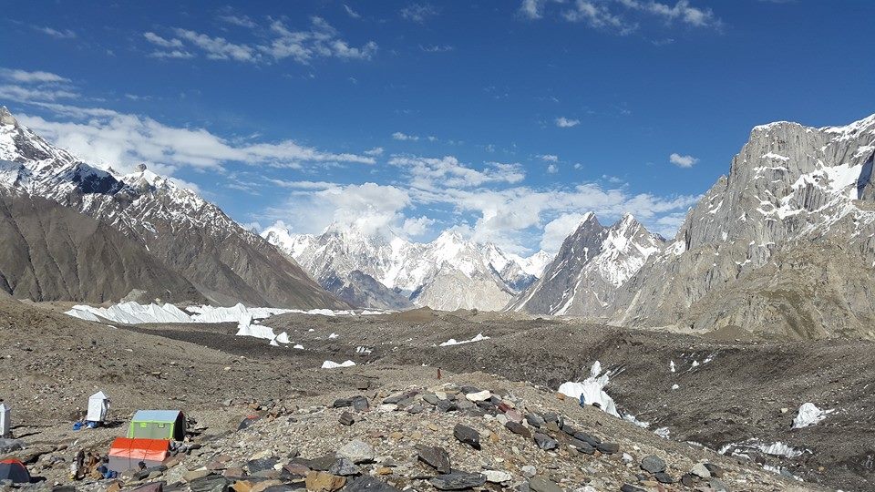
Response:
[[[0,262],[0,287],[17,297],[103,302],[143,291],[222,305],[348,307],[194,191],[143,166],[128,175],[90,166],[19,125],[6,108],[0,108],[0,194],[10,225],[0,241],[17,251]],[[100,237],[79,237],[80,228]],[[104,256],[58,251],[95,244]],[[89,268],[81,268],[84,262]]]

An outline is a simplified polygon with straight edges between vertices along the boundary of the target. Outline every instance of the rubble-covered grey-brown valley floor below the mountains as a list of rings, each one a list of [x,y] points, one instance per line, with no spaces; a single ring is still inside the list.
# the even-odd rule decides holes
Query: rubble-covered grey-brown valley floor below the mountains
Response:
[[[675,478],[699,461],[719,464],[731,490],[875,487],[875,396],[870,391],[875,368],[869,364],[875,345],[868,342],[726,342],[569,321],[418,310],[359,317],[275,316],[263,323],[276,333],[289,333],[293,343],[272,347],[265,340],[234,336],[232,323],[108,326],[20,302],[0,307],[0,336],[12,341],[0,346],[0,357],[11,369],[11,377],[0,383],[0,395],[13,407],[15,435],[28,444],[19,453],[45,448],[45,455],[30,457],[38,463],[35,474],[49,481],[64,481],[72,450],[93,446],[105,453],[112,437],[124,433],[124,425],[71,430],[88,395],[100,389],[112,399],[111,412],[119,421],[127,421],[138,408],[165,407],[197,419],[203,427],[198,437],[202,451],[186,457],[180,469],[207,464],[216,455],[242,466],[263,448],[279,456],[293,447],[312,458],[359,437],[396,462],[406,460],[402,468],[407,455],[416,455],[416,444],[444,441],[463,469],[500,465],[519,482],[524,480],[521,466],[531,462],[551,469],[551,480],[571,489],[587,482],[597,490],[617,490],[623,483],[647,489],[635,475],[641,472],[637,462],[649,454],[663,456]],[[440,346],[479,333],[489,338]],[[296,343],[304,349],[293,349]],[[356,365],[320,369],[326,360]],[[605,391],[621,412],[648,422],[647,428],[556,396],[559,384],[586,378],[596,361],[611,374]],[[439,381],[438,367],[444,376]],[[331,408],[336,398],[352,395],[365,395],[378,407],[396,391],[417,388],[426,394],[445,383],[450,392],[466,384],[510,390],[518,405],[566,415],[589,432],[618,442],[621,452],[600,458],[551,455],[515,441],[520,436],[494,421],[462,413],[372,412],[363,422],[343,427],[336,424],[342,409]],[[817,425],[791,429],[799,405],[806,402],[836,410]],[[267,417],[272,412],[277,418]],[[254,413],[265,418],[251,429],[235,430]],[[451,429],[457,423],[479,429],[481,436],[496,434],[498,442],[489,441],[482,453],[474,453],[453,441]],[[658,428],[667,428],[669,438],[654,434]],[[764,452],[787,448],[768,449],[775,443],[800,454]],[[61,457],[67,462],[56,459]],[[569,460],[577,461],[569,465]],[[417,473],[421,470],[406,476],[398,469],[385,479],[418,487]]]

